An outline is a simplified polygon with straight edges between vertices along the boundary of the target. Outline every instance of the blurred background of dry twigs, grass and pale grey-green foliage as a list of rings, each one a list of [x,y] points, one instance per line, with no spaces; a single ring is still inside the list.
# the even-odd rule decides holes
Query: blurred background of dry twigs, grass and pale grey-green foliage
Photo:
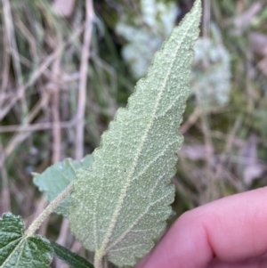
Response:
[[[47,202],[32,172],[99,145],[193,2],[1,1],[1,214],[27,224],[39,215]],[[173,179],[176,215],[267,184],[267,1],[203,4]],[[38,232],[90,257],[59,215]]]

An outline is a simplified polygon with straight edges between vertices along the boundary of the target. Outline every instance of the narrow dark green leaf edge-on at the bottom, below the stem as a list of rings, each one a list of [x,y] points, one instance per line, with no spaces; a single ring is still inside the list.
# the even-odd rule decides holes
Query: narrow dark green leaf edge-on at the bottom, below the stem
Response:
[[[90,264],[85,258],[78,256],[70,251],[68,248],[62,247],[54,241],[50,241],[53,247],[54,254],[63,260],[66,264],[69,264],[73,268],[93,268],[93,264]]]

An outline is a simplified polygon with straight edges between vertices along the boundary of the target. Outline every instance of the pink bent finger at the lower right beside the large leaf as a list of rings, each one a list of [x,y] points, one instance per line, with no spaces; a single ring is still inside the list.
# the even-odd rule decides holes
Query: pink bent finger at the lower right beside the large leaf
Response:
[[[183,214],[135,268],[267,267],[267,187]]]

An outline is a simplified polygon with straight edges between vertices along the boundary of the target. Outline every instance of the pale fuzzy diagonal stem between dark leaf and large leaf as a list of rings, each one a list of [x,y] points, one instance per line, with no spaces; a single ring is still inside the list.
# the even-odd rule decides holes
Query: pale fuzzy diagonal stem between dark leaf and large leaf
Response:
[[[44,220],[50,214],[53,213],[56,207],[58,207],[61,204],[61,201],[70,194],[72,189],[73,185],[72,183],[70,183],[69,186],[56,197],[56,199],[53,199],[53,201],[44,209],[44,211],[36,218],[36,220],[30,224],[25,235],[28,237],[32,236],[39,229]]]

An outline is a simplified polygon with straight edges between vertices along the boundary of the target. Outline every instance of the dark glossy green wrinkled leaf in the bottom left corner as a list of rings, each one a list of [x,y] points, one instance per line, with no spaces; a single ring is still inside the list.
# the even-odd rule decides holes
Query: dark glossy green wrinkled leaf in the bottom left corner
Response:
[[[0,218],[0,268],[48,268],[53,248],[48,240],[24,234],[20,216],[5,213]]]

